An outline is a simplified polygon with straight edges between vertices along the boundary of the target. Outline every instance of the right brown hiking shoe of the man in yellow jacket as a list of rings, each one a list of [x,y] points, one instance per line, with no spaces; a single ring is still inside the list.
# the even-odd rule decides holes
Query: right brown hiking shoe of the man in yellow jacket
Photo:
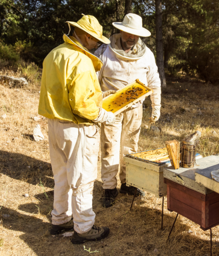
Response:
[[[79,234],[74,230],[72,243],[84,244],[86,241],[99,241],[107,237],[109,233],[110,229],[108,227],[97,227],[95,225],[92,226],[91,230],[84,234]]]

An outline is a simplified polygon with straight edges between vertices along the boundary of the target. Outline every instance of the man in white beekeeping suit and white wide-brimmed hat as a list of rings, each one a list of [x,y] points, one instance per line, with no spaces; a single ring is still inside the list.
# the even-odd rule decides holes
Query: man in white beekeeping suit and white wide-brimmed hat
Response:
[[[109,45],[103,45],[95,54],[103,67],[97,72],[101,90],[118,90],[139,79],[153,90],[150,99],[152,114],[150,122],[157,121],[161,108],[161,82],[157,72],[154,54],[142,42],[140,37],[149,37],[151,33],[142,27],[142,18],[136,14],[127,14],[123,22],[112,23],[119,34],[111,36]],[[138,150],[138,139],[142,123],[142,103],[138,102],[126,112],[116,116],[115,122],[109,126],[101,125],[101,178],[105,189],[103,206],[110,207],[118,195],[116,174],[120,160],[120,193],[134,195],[135,188],[126,186],[125,154]],[[120,155],[121,143],[121,156]],[[138,196],[145,193],[138,189]]]

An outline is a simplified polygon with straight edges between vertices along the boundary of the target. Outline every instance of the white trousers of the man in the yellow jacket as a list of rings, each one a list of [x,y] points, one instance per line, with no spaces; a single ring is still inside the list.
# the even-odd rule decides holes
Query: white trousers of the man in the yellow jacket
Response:
[[[93,184],[97,178],[100,135],[95,125],[48,119],[50,158],[54,175],[52,223],[73,215],[74,230],[85,233],[95,222]]]

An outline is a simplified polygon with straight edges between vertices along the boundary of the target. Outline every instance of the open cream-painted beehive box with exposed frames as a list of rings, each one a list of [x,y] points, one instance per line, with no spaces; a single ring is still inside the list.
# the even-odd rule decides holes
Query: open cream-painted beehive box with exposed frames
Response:
[[[164,167],[171,165],[166,148],[149,150],[124,156],[126,184],[154,194],[166,196]]]

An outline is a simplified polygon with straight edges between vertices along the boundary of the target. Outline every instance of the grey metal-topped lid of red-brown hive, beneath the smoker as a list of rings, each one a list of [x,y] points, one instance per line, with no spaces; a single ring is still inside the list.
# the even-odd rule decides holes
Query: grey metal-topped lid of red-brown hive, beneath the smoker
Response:
[[[193,168],[180,167],[180,169],[175,170],[172,166],[165,167],[164,177],[178,184],[184,185],[187,188],[191,188],[204,195],[207,195],[213,191],[206,188],[204,185],[195,182],[195,172],[214,166],[215,164],[219,163],[218,160],[219,157],[211,155],[209,157],[196,159],[196,165]]]

